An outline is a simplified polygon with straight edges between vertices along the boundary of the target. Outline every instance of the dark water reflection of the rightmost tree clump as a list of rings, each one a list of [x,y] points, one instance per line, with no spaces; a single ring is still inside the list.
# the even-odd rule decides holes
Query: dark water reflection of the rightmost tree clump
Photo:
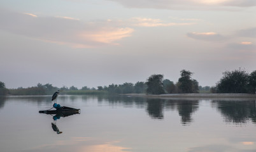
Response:
[[[251,101],[212,101],[213,107],[225,118],[225,122],[234,124],[246,124],[252,121],[256,124],[255,100]]]

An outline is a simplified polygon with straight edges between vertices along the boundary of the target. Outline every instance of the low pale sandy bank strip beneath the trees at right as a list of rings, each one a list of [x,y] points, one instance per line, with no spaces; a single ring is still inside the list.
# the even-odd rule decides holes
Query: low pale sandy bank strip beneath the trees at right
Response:
[[[191,93],[191,94],[122,94],[126,96],[145,98],[250,98],[256,99],[256,94],[230,93]]]

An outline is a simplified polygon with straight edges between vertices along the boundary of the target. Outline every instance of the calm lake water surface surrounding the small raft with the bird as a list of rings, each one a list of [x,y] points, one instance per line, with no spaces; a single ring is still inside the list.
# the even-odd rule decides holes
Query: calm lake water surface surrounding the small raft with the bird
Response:
[[[38,113],[52,108],[51,98],[0,98],[0,151],[256,151],[253,99],[59,96],[57,103],[81,111],[55,122]]]

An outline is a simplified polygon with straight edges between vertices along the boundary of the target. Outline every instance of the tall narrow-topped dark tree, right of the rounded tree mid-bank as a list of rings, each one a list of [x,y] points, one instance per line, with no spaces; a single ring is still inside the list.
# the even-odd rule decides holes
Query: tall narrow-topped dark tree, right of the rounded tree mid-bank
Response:
[[[179,84],[178,89],[181,93],[192,93],[193,92],[193,83],[196,83],[196,82],[193,82],[193,80],[191,79],[192,74],[193,74],[192,72],[187,71],[187,70],[180,71],[181,77],[178,80],[178,84]]]

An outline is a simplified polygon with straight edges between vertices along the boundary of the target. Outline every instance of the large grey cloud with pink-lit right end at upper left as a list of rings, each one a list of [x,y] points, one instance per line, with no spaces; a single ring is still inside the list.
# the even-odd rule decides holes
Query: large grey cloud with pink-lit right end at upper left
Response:
[[[117,45],[117,41],[131,36],[129,27],[111,25],[108,21],[82,22],[68,16],[37,16],[0,10],[0,29],[32,39],[71,47]]]

